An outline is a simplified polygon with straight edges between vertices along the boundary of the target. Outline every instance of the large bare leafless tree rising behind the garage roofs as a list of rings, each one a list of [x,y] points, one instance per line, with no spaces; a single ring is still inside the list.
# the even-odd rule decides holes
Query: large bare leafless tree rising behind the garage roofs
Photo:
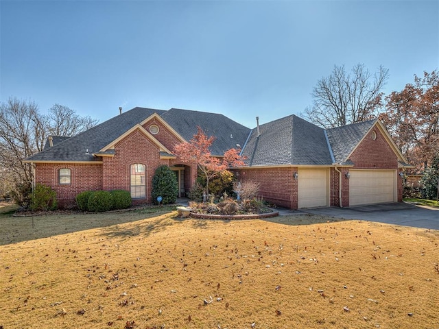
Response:
[[[331,128],[375,117],[388,77],[383,66],[370,73],[364,64],[357,64],[351,75],[344,66],[335,65],[331,75],[322,77],[313,88],[313,105],[305,110],[305,118]]]

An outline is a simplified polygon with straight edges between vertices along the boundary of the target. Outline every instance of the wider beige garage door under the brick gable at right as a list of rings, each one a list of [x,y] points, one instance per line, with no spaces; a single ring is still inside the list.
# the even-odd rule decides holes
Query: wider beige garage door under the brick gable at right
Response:
[[[350,170],[349,205],[396,202],[396,171]]]

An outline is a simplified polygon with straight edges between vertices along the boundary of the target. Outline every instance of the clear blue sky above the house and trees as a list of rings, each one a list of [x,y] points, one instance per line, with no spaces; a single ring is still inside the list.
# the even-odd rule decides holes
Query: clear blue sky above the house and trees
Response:
[[[439,67],[439,1],[0,0],[0,101],[106,121],[119,106],[221,113],[254,127],[300,114],[333,66]]]

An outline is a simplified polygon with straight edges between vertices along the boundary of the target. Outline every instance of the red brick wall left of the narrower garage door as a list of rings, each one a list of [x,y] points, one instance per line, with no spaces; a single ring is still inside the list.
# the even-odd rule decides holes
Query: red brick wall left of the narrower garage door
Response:
[[[297,180],[293,173],[297,168],[233,169],[238,180],[252,180],[261,184],[259,197],[278,206],[297,209]]]

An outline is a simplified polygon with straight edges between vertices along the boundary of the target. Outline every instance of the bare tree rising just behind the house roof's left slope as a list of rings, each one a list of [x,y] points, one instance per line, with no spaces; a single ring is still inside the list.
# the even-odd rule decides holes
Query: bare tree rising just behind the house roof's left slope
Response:
[[[91,117],[80,117],[74,110],[60,104],[49,108],[45,117],[47,133],[52,136],[75,136],[97,124]]]

